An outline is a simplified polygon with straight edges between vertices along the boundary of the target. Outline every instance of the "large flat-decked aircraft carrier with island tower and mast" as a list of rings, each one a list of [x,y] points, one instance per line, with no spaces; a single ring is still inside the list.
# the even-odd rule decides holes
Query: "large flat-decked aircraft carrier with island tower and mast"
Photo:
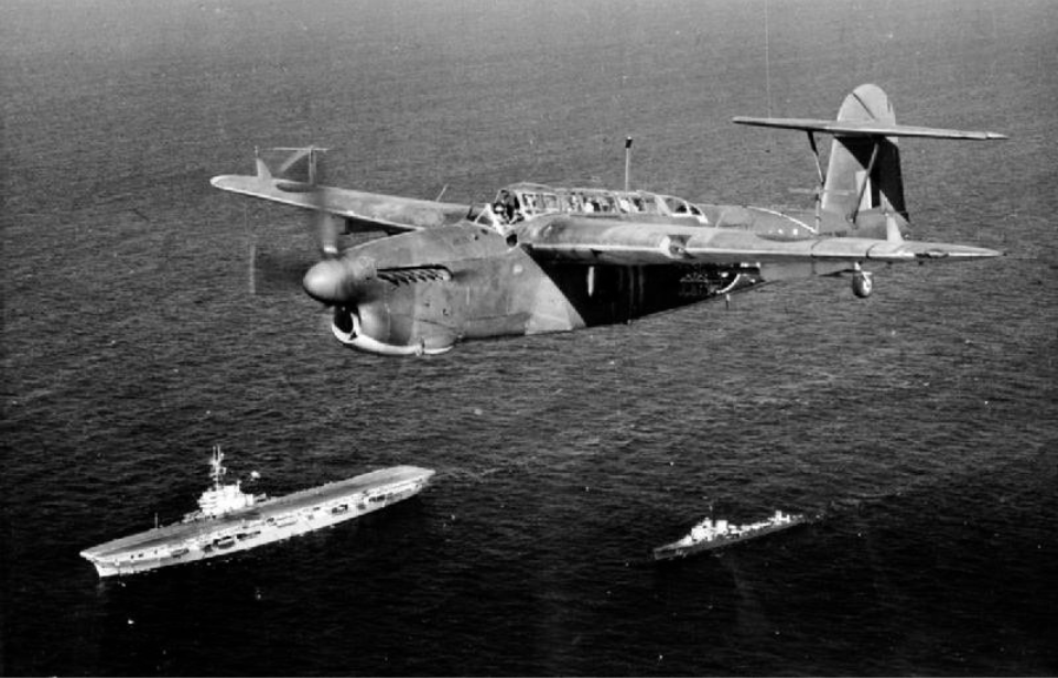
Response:
[[[242,492],[240,481],[225,484],[223,461],[217,445],[209,461],[213,485],[198,498],[198,510],[180,523],[85,549],[82,557],[100,577],[111,577],[245,551],[407,499],[419,494],[434,473],[393,466],[269,499]]]

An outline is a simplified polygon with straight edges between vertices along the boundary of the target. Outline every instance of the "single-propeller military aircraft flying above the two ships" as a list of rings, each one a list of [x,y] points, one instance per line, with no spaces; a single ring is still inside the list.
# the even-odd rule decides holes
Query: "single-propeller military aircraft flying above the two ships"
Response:
[[[993,132],[897,125],[874,85],[850,94],[836,120],[735,118],[808,133],[819,185],[813,208],[777,212],[694,204],[647,191],[504,187],[465,205],[364,193],[316,182],[253,176],[214,186],[316,213],[323,258],[305,273],[313,299],[333,309],[334,335],[384,355],[435,354],[457,342],[568,332],[625,322],[764,282],[848,275],[872,291],[864,267],[996,257],[980,247],[905,239],[899,137],[1005,139]],[[825,174],[816,134],[833,137]],[[629,140],[630,143],[630,140]],[[626,147],[627,148],[627,147]],[[384,232],[339,251],[338,235]]]

